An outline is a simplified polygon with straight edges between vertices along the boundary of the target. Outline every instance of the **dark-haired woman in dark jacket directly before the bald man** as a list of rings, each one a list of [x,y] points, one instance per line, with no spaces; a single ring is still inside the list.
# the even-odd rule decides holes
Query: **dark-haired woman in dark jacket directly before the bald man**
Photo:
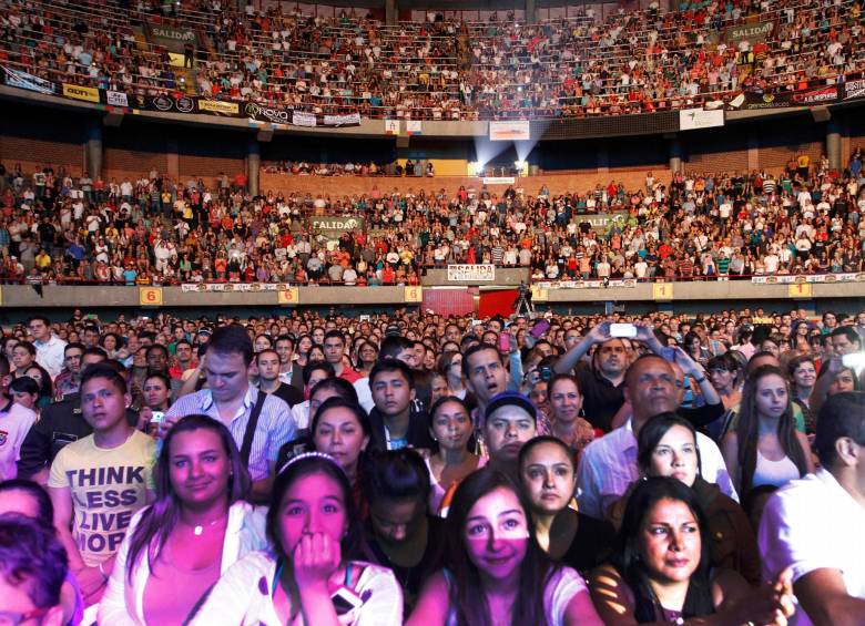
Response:
[[[696,431],[675,413],[650,419],[637,438],[637,464],[644,476],[672,476],[696,493],[709,524],[712,567],[739,572],[752,586],[762,582],[754,530],[739,503],[700,475]],[[623,512],[628,497],[614,505]],[[621,523],[621,517],[614,520]]]

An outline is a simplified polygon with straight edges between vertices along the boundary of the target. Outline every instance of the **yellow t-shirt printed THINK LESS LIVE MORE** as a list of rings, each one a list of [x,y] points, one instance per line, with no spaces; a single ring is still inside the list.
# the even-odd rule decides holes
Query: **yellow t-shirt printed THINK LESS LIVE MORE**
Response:
[[[93,435],[63,448],[51,464],[48,486],[72,494],[75,538],[89,567],[111,558],[120,548],[132,516],[153,490],[156,441],[134,431],[123,445],[96,447]]]

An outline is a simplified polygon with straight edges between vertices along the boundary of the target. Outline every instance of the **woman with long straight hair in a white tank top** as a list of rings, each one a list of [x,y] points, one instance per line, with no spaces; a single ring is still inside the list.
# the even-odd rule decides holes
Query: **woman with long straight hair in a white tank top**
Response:
[[[796,430],[790,384],[775,366],[761,366],[745,381],[735,431],[721,442],[741,497],[762,484],[781,486],[814,471],[805,433]]]

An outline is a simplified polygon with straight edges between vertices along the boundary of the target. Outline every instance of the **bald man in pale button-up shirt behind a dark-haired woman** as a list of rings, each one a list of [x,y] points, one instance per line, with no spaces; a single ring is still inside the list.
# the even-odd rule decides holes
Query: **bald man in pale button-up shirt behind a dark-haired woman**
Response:
[[[591,442],[577,470],[577,503],[580,512],[603,520],[610,505],[640,478],[637,465],[637,435],[649,418],[675,412],[681,402],[675,372],[664,359],[647,355],[637,359],[624,376],[624,399],[632,407],[631,419],[622,427]],[[736,497],[735,489],[718,445],[698,433],[701,475],[721,491]]]

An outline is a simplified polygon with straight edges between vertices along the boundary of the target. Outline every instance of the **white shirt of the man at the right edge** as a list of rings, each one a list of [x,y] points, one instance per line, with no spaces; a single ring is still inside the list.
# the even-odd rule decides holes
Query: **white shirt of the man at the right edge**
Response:
[[[793,582],[838,569],[851,596],[865,599],[865,507],[827,470],[791,481],[766,503],[757,533],[766,579],[791,567]],[[811,626],[798,608],[791,626]]]

